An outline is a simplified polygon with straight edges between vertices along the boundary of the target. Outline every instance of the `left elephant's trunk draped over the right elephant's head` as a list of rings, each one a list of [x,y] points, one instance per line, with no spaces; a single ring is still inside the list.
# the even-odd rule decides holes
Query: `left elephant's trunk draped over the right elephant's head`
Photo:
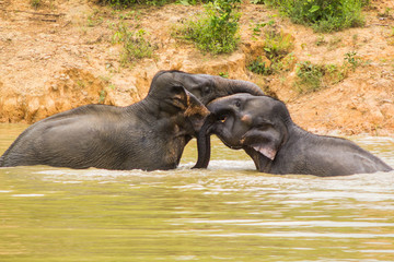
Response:
[[[248,81],[229,80],[216,76],[215,82],[217,86],[227,86],[227,88],[221,88],[223,91],[223,94],[220,94],[219,96],[228,96],[236,93],[248,93],[255,96],[264,95],[264,92],[258,85]]]

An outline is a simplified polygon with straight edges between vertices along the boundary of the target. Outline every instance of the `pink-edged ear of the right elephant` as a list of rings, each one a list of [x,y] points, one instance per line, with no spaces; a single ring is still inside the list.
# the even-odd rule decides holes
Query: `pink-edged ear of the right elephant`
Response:
[[[241,142],[274,160],[281,144],[281,138],[279,130],[267,123],[247,131]]]

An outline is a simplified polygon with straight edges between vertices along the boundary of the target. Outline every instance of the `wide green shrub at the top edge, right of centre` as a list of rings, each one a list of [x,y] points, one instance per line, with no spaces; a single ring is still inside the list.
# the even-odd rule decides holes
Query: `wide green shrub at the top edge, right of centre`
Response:
[[[292,22],[316,32],[333,32],[364,24],[361,9],[369,0],[255,0],[277,7]]]

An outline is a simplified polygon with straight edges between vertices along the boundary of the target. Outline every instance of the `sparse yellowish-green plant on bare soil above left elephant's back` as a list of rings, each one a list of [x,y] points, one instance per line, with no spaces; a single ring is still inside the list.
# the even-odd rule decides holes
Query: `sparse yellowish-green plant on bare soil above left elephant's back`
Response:
[[[113,36],[113,44],[121,44],[121,64],[127,64],[141,58],[151,58],[155,47],[146,39],[144,29],[129,31],[125,23],[119,23]]]

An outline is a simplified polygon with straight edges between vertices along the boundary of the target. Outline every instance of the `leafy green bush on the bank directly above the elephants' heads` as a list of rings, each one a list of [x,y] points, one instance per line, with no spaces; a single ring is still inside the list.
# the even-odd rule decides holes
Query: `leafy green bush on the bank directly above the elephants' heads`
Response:
[[[198,20],[189,20],[176,29],[175,37],[192,40],[204,50],[216,53],[232,52],[240,41],[237,12],[241,0],[213,0],[205,4]]]

